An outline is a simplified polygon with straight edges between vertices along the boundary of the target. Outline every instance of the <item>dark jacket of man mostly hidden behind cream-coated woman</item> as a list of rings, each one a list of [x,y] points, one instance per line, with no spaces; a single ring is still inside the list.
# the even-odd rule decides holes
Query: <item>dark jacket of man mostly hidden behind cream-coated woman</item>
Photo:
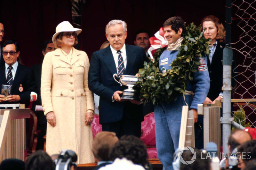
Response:
[[[30,68],[29,76],[31,77],[31,79],[35,80],[36,93],[37,93],[37,100],[33,102],[32,110],[36,114],[37,123],[39,125],[47,123],[46,116],[44,115],[44,112],[43,111],[35,111],[36,105],[42,105],[41,90],[40,90],[41,75],[42,75],[42,64],[32,65]]]

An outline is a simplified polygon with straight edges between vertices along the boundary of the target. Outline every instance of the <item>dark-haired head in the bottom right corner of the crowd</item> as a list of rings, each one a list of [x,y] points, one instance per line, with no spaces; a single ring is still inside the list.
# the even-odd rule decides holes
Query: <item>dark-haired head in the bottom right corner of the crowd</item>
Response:
[[[256,159],[256,140],[249,140],[237,147],[237,153],[238,156],[238,163],[237,167],[241,170],[245,169],[245,166],[249,162],[252,161],[252,159]],[[237,156],[237,155],[236,155]]]

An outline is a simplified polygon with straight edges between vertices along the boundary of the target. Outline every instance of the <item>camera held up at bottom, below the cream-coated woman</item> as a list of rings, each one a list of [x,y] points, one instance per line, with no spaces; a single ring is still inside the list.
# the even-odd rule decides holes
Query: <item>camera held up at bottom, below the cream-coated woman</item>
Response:
[[[55,170],[71,170],[73,166],[76,169],[77,155],[71,150],[62,150],[58,159],[54,160]]]

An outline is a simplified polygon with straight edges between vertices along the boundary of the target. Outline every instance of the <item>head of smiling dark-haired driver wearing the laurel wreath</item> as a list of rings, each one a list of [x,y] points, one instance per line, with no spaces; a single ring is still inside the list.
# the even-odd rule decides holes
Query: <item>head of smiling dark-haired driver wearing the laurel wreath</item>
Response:
[[[167,39],[169,44],[175,43],[178,39],[183,35],[182,33],[185,31],[185,23],[184,20],[178,17],[171,17],[167,19],[164,24],[164,36]]]

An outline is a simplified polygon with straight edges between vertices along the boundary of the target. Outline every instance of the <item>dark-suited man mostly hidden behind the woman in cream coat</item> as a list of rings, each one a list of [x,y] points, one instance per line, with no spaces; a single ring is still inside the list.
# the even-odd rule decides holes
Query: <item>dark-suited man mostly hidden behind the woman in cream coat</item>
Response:
[[[55,50],[55,46],[52,43],[52,39],[49,39],[44,42],[42,48],[42,54],[45,55],[48,52]],[[46,116],[44,115],[43,111],[36,111],[36,106],[42,107],[42,100],[41,100],[41,75],[42,75],[42,63],[32,65],[30,68],[29,76],[35,80],[36,83],[36,92],[37,92],[37,100],[33,102],[32,110],[36,114],[37,117],[37,130],[40,130],[41,133],[38,135],[38,143],[36,146],[36,150],[43,150],[44,149],[44,135],[46,135],[46,127],[47,127],[47,120]],[[42,107],[43,109],[43,107]]]

